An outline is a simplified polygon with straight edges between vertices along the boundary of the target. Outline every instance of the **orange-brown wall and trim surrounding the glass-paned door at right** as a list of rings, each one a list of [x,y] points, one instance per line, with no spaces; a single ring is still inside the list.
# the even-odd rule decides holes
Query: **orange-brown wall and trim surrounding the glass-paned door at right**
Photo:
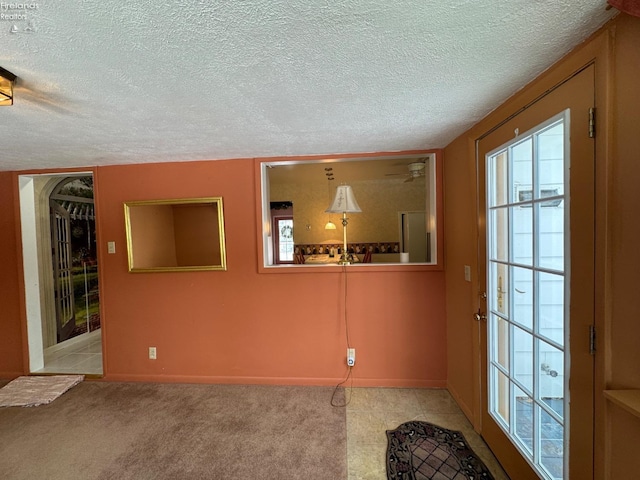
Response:
[[[605,389],[640,390],[640,19],[620,14],[445,148],[447,384],[477,429],[477,258],[474,141],[588,62],[596,65],[595,478],[640,471],[640,418],[604,399]],[[463,279],[472,267],[472,282]]]

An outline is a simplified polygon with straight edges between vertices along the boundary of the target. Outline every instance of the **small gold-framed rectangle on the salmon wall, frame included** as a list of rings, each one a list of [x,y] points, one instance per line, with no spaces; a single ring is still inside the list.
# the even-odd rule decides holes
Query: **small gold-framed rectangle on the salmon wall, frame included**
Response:
[[[125,202],[130,272],[226,270],[222,197]]]

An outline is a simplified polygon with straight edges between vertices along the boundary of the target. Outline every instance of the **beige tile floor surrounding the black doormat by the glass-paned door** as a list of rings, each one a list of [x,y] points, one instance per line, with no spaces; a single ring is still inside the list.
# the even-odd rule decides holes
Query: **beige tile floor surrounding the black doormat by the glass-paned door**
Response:
[[[349,480],[386,480],[386,430],[411,420],[462,432],[496,480],[508,480],[447,390],[346,388]]]

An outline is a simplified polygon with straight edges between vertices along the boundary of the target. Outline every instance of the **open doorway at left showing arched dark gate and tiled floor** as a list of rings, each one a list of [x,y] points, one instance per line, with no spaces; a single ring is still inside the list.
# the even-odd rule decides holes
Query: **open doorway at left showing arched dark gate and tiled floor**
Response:
[[[91,172],[21,175],[30,373],[102,375]]]

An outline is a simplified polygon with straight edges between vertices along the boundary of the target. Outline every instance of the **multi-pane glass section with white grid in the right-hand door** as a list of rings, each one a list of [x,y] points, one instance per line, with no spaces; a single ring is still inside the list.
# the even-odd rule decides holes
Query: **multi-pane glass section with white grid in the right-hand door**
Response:
[[[564,478],[568,111],[487,155],[489,414],[545,479]]]

